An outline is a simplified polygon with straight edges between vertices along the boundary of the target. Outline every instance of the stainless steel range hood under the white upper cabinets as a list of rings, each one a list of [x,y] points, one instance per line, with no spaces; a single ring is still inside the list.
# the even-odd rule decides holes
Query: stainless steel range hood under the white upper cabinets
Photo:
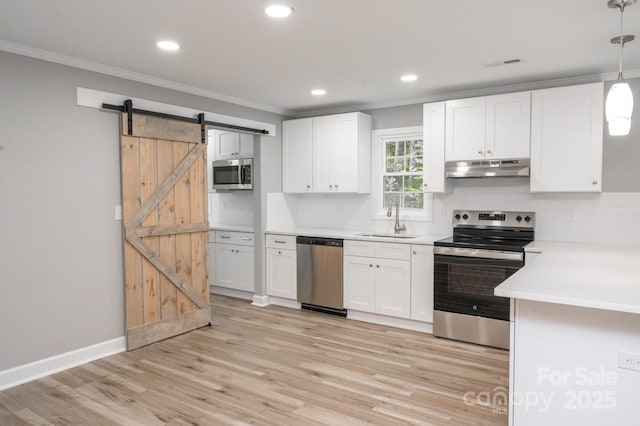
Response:
[[[529,164],[528,158],[447,161],[445,163],[445,176],[448,178],[529,176]]]

